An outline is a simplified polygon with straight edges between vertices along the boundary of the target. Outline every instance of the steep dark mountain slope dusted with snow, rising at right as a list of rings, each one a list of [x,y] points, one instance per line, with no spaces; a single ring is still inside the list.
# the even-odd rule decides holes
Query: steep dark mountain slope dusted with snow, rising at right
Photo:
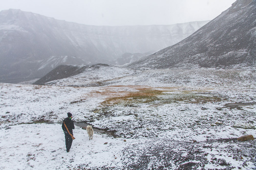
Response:
[[[185,40],[131,67],[241,67],[256,64],[256,1],[238,0]]]

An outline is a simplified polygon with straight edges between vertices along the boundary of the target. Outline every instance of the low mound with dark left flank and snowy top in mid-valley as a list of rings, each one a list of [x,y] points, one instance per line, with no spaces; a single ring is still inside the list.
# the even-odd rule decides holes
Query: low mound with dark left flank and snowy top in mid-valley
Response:
[[[132,75],[134,72],[135,70],[121,68],[110,64],[93,64],[86,66],[61,65],[50,71],[48,74],[33,84],[51,84],[51,81],[58,80],[58,82],[63,81],[64,85],[70,86],[102,86],[106,85],[103,82],[107,82],[108,79],[118,80],[121,77]],[[72,81],[68,83],[65,78]],[[76,84],[76,81],[83,82],[83,85],[80,83]],[[87,83],[89,85],[87,85]]]

